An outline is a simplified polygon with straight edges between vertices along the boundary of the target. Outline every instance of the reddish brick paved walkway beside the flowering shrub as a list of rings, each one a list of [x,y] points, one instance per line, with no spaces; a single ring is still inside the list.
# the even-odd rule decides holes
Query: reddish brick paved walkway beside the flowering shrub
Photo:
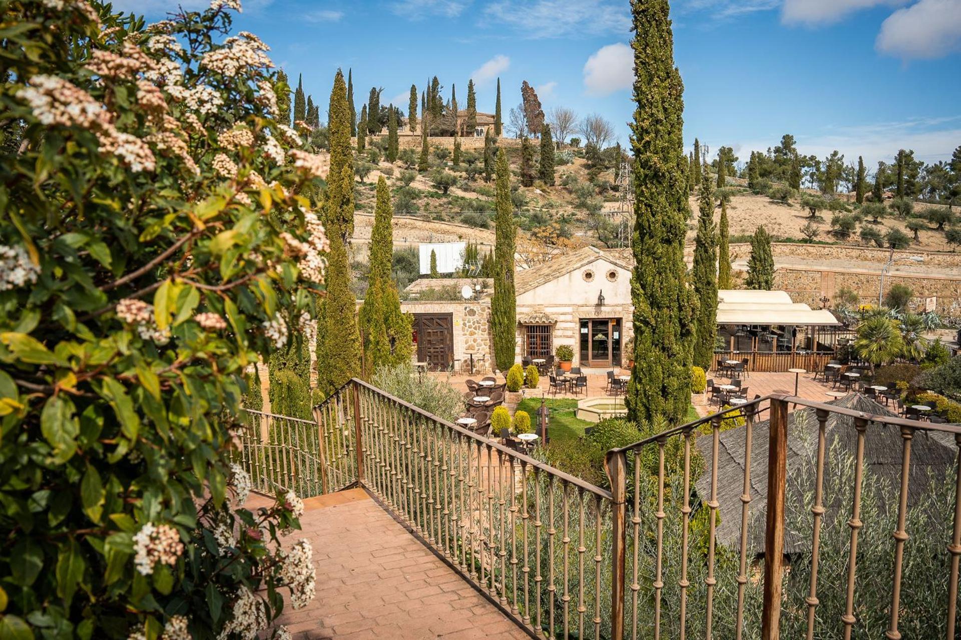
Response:
[[[530,640],[362,489],[305,505],[291,537],[313,545],[317,596],[285,608],[295,640]]]

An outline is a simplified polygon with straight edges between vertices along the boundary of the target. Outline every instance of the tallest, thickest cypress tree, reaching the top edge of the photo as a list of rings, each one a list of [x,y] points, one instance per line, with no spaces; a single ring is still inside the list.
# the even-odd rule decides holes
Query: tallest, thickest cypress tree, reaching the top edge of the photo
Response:
[[[628,419],[680,423],[691,399],[695,300],[686,283],[683,83],[667,0],[631,3],[634,39],[634,366]],[[678,179],[678,177],[680,179]]]

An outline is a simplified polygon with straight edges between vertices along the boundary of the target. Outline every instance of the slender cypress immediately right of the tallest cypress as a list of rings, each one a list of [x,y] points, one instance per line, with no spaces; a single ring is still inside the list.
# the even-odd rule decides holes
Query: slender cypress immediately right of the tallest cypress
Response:
[[[714,229],[714,190],[711,181],[701,183],[698,199],[698,234],[694,245],[691,270],[698,313],[694,326],[694,365],[705,371],[711,367],[714,338],[717,336],[717,235]]]

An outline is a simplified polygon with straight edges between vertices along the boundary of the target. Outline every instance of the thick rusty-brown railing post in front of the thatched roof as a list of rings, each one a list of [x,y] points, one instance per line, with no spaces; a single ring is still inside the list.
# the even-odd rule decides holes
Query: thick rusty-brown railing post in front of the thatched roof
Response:
[[[784,560],[784,490],[787,485],[787,402],[771,400],[768,436],[767,522],[764,529],[762,640],[779,640]]]

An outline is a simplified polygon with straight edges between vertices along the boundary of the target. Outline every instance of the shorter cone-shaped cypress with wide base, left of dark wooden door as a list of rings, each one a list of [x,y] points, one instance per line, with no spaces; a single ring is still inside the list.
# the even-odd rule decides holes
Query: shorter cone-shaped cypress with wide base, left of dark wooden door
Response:
[[[412,349],[410,317],[401,312],[401,298],[397,293],[397,284],[391,277],[393,215],[390,189],[382,176],[377,181],[377,204],[370,237],[369,285],[359,313],[364,340],[364,368],[368,376],[377,367],[409,361]]]

